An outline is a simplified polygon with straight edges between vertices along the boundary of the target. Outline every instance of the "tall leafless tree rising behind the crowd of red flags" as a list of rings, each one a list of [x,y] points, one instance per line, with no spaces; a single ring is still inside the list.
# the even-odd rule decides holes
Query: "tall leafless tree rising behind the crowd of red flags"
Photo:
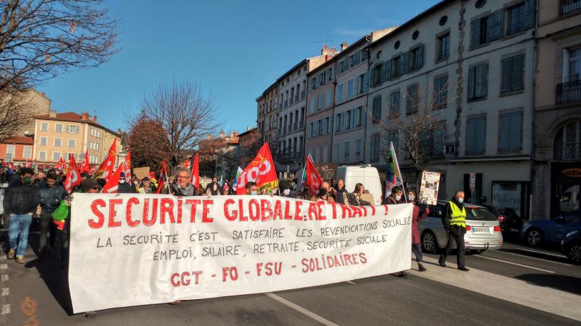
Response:
[[[141,106],[142,112],[162,124],[167,133],[172,171],[187,153],[218,129],[214,100],[195,83],[162,84],[157,91],[144,96]]]

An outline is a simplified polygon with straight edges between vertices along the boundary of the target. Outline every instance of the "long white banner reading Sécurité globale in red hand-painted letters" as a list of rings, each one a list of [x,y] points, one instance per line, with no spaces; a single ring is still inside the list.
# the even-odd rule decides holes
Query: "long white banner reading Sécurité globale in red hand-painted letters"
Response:
[[[412,204],[75,194],[74,313],[320,286],[411,267]]]

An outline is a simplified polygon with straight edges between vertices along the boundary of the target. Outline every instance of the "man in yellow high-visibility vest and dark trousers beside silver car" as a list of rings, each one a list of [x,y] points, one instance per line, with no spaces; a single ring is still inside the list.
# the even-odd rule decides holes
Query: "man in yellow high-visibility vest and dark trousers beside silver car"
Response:
[[[442,217],[444,229],[448,234],[448,244],[446,250],[440,255],[439,264],[446,267],[446,257],[452,250],[452,245],[456,242],[458,249],[458,269],[468,272],[464,262],[464,235],[466,234],[466,209],[464,209],[464,192],[458,190],[451,201],[446,204],[446,214]]]

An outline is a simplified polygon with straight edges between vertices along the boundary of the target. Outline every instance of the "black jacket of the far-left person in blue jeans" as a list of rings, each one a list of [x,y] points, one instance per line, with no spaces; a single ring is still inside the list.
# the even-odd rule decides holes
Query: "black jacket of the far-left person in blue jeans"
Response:
[[[21,180],[11,183],[4,194],[4,213],[33,214],[40,204],[38,185],[24,185]]]

